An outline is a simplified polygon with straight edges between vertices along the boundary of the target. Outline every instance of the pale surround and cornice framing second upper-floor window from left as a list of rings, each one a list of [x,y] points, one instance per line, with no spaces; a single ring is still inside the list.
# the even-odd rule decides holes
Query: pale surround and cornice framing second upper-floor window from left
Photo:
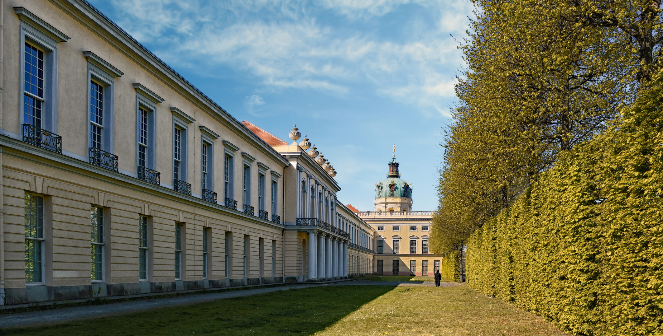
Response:
[[[103,86],[103,135],[101,138],[101,149],[113,153],[115,151],[115,78],[122,77],[124,73],[93,52],[83,52],[83,56],[88,60],[88,91],[90,90],[90,81],[95,81]],[[90,100],[90,92],[88,92],[88,119],[90,118]],[[88,120],[88,144],[91,143],[90,134],[91,122]]]

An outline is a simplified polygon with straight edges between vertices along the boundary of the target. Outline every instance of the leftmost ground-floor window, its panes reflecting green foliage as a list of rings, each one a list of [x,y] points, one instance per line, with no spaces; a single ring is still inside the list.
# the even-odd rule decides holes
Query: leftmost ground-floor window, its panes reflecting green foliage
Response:
[[[25,282],[44,282],[44,198],[25,194],[25,215],[23,219],[25,226]]]

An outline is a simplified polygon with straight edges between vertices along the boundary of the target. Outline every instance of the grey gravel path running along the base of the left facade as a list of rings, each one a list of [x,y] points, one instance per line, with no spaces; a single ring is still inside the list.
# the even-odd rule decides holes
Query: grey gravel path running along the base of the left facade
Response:
[[[368,285],[368,286],[435,286],[434,282],[418,282],[418,281],[371,281],[371,280],[356,280],[349,282],[338,282],[332,284],[291,284],[286,286],[257,288],[247,290],[231,290],[228,292],[217,293],[204,293],[204,294],[191,294],[184,296],[176,296],[174,298],[152,298],[149,300],[136,300],[126,302],[115,302],[111,304],[99,304],[97,306],[80,306],[80,307],[66,307],[56,308],[51,310],[40,310],[36,312],[18,312],[14,314],[0,315],[0,328],[9,327],[27,327],[40,324],[62,323],[66,321],[75,321],[78,319],[86,319],[91,317],[106,317],[110,315],[121,315],[133,312],[140,312],[143,310],[151,310],[155,308],[167,308],[174,306],[182,306],[187,304],[197,304],[200,302],[207,302],[213,300],[221,300],[227,298],[237,298],[239,296],[249,296],[255,294],[263,294],[269,292],[276,292],[278,290],[289,290],[291,288],[307,288],[313,286],[355,286],[355,285]],[[443,287],[463,286],[453,282],[442,282]]]

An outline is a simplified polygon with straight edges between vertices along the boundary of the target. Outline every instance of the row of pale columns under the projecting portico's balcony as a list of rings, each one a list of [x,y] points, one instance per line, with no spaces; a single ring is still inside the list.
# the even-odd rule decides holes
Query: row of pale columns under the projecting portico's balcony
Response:
[[[347,277],[347,240],[308,231],[308,280]]]

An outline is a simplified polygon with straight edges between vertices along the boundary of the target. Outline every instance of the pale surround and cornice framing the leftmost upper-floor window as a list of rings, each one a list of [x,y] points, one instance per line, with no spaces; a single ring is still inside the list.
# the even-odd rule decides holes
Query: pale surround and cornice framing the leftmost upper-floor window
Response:
[[[44,51],[44,106],[42,107],[41,128],[58,133],[58,43],[66,42],[66,36],[60,30],[43,21],[24,7],[14,7],[16,15],[21,21],[21,53],[19,87],[23,92],[25,86],[25,42],[28,42]],[[23,124],[23,94],[20,96],[19,118]],[[21,134],[23,130],[21,129]]]

